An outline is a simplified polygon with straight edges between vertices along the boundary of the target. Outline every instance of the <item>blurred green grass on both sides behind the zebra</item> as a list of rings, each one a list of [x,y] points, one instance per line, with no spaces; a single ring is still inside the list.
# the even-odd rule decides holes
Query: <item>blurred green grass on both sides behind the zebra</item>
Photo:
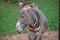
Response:
[[[38,4],[39,9],[46,15],[48,19],[48,30],[58,30],[58,0],[42,0],[34,1]],[[0,1],[0,33],[15,34],[16,22],[18,20],[18,5]],[[23,30],[26,33],[26,29]]]

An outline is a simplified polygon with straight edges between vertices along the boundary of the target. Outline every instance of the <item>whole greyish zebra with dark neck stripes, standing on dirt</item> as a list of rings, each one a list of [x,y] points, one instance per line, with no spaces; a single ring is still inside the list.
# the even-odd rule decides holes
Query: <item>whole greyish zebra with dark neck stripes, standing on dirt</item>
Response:
[[[17,32],[22,33],[23,28],[26,27],[29,40],[41,40],[48,26],[46,17],[34,3],[19,3],[18,5],[20,14],[16,24]]]

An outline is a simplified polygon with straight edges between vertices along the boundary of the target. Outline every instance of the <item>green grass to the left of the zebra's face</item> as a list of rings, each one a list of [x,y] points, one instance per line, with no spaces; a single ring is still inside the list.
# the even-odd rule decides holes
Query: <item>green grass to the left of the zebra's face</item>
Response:
[[[5,34],[16,33],[16,22],[19,9],[16,4],[0,4],[0,32]]]

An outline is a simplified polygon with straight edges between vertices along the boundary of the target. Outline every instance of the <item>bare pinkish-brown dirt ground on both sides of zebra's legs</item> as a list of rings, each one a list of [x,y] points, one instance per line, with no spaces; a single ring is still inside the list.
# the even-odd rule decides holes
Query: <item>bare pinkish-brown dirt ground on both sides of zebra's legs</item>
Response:
[[[25,34],[17,34],[17,35],[6,35],[1,38],[1,40],[28,40],[27,33]],[[43,34],[42,40],[58,40],[58,32],[49,31]]]

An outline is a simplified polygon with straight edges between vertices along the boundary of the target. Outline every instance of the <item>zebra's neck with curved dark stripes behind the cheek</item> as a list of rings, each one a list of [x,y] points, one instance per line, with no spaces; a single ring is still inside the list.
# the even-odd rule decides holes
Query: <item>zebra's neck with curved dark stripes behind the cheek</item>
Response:
[[[29,24],[29,30],[33,32],[38,32],[40,29],[35,30],[36,28],[40,27],[40,16],[37,11],[32,10],[33,12],[30,13],[31,16],[31,24]]]

